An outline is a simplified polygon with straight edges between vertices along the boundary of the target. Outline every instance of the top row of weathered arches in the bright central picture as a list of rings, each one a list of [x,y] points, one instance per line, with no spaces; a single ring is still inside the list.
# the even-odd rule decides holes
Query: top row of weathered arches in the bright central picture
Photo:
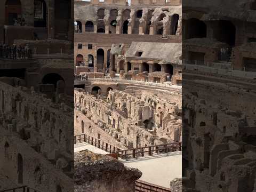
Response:
[[[150,10],[147,15],[147,21],[145,23],[145,26],[143,27],[143,34],[149,34],[150,33],[150,26],[151,26],[151,18],[153,17],[154,10]],[[126,9],[122,13],[122,25],[121,27],[121,33],[122,34],[128,34],[128,26],[129,26],[129,19],[131,19],[131,10]],[[142,10],[137,10],[135,13],[133,28],[131,33],[132,34],[139,34],[139,25],[140,25],[140,18],[142,18]],[[116,34],[116,26],[117,26],[117,18],[118,10],[112,9],[110,10],[110,16],[109,16],[109,34]],[[105,22],[103,21],[103,18],[105,17],[105,10],[99,9],[98,10],[98,22],[97,22],[97,33],[106,33],[105,29]],[[162,13],[158,17],[158,21],[162,21],[164,17],[167,17],[166,14]],[[174,14],[171,18],[171,25],[169,26],[169,35],[176,35],[177,29],[178,29],[178,22],[179,22],[179,15]],[[75,28],[77,33],[82,33],[83,30],[86,33],[93,33],[94,32],[94,23],[92,21],[87,21],[85,23],[85,29],[82,27],[82,22],[77,20],[75,23]],[[157,35],[163,35],[163,23],[158,23],[156,26],[156,32]]]

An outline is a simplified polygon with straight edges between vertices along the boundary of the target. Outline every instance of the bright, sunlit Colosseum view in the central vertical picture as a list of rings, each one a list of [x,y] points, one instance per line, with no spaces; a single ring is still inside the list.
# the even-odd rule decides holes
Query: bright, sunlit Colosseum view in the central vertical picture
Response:
[[[181,191],[181,2],[74,14],[75,191]]]

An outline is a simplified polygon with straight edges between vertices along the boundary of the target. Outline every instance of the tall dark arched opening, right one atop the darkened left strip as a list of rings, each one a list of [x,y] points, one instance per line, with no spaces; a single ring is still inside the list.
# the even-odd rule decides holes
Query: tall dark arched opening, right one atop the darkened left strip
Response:
[[[46,27],[46,3],[44,0],[34,1],[34,26]]]

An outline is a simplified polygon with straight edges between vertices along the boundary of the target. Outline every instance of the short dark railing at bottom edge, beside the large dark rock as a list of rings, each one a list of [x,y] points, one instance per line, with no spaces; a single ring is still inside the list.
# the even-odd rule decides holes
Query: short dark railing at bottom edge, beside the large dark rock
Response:
[[[171,192],[171,189],[145,181],[135,181],[135,192]]]

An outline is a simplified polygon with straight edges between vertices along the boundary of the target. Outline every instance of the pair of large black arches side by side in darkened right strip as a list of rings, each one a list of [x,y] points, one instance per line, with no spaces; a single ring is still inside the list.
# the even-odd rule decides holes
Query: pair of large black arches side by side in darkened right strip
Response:
[[[185,39],[209,37],[207,31],[211,26],[214,26],[212,27],[212,38],[215,38],[220,42],[225,42],[230,46],[235,46],[236,27],[231,21],[218,20],[206,23],[199,19],[191,18],[186,20],[184,25],[186,29],[184,34]]]

